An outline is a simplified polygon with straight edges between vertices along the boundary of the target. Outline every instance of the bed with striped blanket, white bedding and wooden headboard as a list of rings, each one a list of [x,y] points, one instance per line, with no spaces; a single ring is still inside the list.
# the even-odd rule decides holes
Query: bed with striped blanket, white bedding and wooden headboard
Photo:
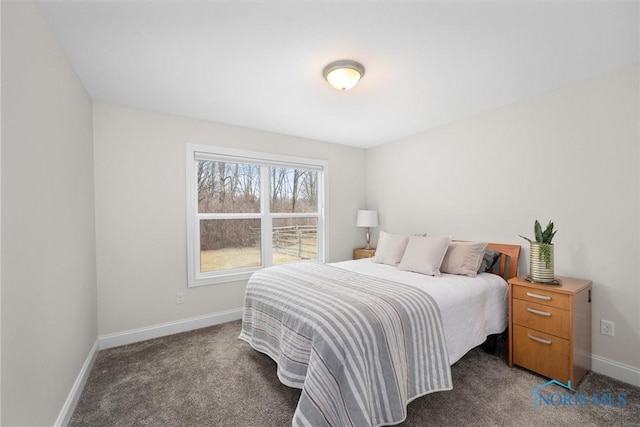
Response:
[[[505,279],[516,276],[520,246],[486,247],[497,262],[476,277],[373,259],[254,273],[240,338],[302,389],[293,425],[397,424],[412,400],[450,390],[450,366],[507,327]]]

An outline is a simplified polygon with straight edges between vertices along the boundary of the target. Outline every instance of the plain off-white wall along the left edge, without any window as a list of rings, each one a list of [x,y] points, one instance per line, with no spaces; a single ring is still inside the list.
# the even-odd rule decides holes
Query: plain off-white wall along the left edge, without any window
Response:
[[[2,425],[52,425],[97,338],[92,106],[34,3],[2,2]]]

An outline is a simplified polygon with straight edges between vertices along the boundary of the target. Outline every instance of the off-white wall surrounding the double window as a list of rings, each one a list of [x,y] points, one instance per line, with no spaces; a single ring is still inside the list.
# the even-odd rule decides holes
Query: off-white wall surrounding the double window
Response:
[[[331,260],[363,244],[365,151],[158,113],[94,105],[101,335],[239,309],[244,282],[187,288],[185,144],[329,162]],[[176,293],[184,292],[184,304]]]

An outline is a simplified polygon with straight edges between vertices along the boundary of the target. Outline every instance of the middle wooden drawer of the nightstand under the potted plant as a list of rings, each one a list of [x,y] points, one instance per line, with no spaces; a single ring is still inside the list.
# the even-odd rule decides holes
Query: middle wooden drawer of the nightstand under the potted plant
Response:
[[[513,299],[513,322],[527,328],[569,339],[569,310]]]

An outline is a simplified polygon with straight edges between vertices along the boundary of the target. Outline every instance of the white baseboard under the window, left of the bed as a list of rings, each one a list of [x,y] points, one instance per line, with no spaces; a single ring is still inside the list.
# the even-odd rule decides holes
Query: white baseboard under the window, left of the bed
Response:
[[[153,338],[173,335],[180,332],[206,328],[207,326],[219,325],[221,323],[239,319],[242,319],[242,308],[177,320],[175,322],[147,326],[145,328],[131,329],[129,331],[117,332],[115,334],[102,335],[98,340],[100,341],[100,350],[104,350],[106,348],[118,347]]]

